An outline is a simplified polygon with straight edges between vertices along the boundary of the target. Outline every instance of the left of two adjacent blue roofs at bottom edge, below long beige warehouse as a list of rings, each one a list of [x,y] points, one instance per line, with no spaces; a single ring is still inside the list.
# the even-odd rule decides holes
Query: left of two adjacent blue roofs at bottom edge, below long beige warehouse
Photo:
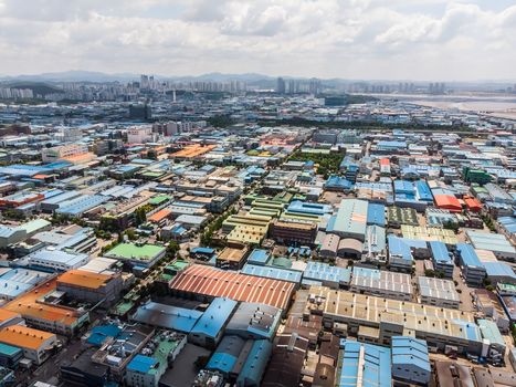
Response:
[[[362,387],[391,386],[391,352],[389,348],[347,339],[343,344],[340,379],[337,380],[339,387],[358,385],[360,364],[362,364]],[[364,348],[364,357],[360,359],[361,348]]]

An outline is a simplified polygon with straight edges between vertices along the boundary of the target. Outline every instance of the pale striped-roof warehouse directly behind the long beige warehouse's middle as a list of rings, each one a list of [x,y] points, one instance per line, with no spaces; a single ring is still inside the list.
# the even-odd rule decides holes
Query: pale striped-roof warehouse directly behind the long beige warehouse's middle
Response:
[[[413,293],[409,274],[358,266],[352,268],[349,290],[404,301],[412,300]]]

